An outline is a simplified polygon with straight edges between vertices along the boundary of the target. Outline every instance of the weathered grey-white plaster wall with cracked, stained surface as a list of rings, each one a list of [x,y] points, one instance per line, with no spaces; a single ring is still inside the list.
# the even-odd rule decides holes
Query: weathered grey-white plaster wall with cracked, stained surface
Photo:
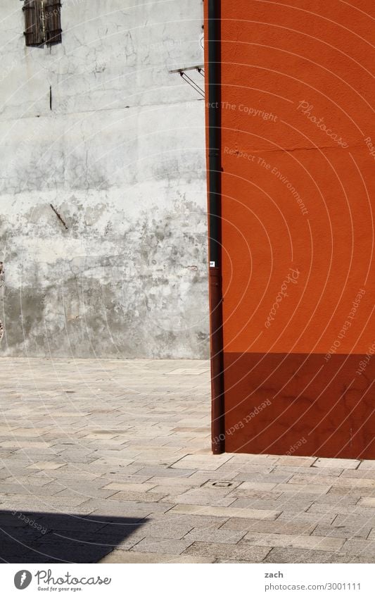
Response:
[[[204,101],[168,72],[203,61],[202,1],[65,0],[44,49],[22,6],[1,0],[1,354],[206,357]]]

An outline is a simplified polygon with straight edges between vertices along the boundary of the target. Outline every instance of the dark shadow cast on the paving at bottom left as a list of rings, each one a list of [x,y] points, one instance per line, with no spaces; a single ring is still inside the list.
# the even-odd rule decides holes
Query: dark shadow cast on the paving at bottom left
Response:
[[[0,511],[0,562],[96,563],[129,549],[146,518]],[[141,537],[137,534],[137,541]]]

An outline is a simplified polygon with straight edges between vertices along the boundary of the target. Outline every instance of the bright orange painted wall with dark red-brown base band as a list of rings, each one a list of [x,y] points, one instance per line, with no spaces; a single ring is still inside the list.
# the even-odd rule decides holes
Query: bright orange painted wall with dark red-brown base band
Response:
[[[374,1],[221,6],[226,449],[375,458]]]

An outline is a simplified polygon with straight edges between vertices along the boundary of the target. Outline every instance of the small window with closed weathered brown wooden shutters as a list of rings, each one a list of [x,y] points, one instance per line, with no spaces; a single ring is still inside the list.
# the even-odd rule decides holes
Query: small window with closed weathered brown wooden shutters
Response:
[[[27,46],[61,43],[61,1],[25,0],[23,12]]]

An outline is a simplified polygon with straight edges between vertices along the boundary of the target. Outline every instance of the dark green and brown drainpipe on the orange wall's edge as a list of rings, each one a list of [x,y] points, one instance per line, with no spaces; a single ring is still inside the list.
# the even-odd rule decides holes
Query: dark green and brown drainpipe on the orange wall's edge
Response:
[[[225,451],[222,334],[222,164],[220,0],[208,0],[208,226],[210,260],[210,347],[212,453]]]

